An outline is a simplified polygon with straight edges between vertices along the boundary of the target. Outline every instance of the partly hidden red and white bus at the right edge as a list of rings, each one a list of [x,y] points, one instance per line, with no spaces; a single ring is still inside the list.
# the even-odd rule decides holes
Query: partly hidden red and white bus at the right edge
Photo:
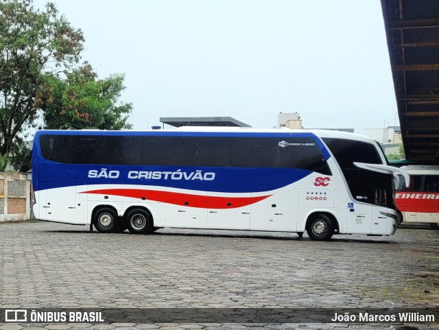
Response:
[[[439,223],[439,165],[407,165],[401,167],[410,174],[410,185],[399,185],[396,205],[404,222]]]

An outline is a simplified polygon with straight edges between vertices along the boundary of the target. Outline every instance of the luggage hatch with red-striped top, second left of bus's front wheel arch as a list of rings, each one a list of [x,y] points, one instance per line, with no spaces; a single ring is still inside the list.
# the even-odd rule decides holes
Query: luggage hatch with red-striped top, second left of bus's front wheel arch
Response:
[[[207,207],[208,229],[250,230],[250,204],[241,198],[208,196]]]

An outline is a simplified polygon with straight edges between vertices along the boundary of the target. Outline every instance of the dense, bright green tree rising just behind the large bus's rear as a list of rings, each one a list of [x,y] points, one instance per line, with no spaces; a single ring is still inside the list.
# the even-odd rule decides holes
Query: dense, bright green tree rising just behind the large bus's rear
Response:
[[[124,75],[98,80],[90,64],[66,73],[66,79],[47,76],[39,106],[47,129],[132,128],[127,123],[132,104],[120,103]]]

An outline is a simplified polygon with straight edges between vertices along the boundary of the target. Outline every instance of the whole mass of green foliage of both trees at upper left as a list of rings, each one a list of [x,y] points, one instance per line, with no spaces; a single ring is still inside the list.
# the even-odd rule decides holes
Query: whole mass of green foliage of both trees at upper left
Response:
[[[132,104],[119,101],[124,75],[97,79],[90,64],[78,67],[84,36],[53,3],[0,0],[0,154],[21,171],[30,167],[28,128],[43,111],[47,128],[131,128]]]

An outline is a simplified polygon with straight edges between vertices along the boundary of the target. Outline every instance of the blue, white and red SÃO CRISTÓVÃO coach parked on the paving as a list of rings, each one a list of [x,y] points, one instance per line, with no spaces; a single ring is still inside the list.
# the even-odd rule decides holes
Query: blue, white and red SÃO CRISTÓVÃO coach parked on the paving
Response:
[[[32,162],[35,217],[102,233],[392,235],[406,175],[368,137],[287,128],[41,130]]]

